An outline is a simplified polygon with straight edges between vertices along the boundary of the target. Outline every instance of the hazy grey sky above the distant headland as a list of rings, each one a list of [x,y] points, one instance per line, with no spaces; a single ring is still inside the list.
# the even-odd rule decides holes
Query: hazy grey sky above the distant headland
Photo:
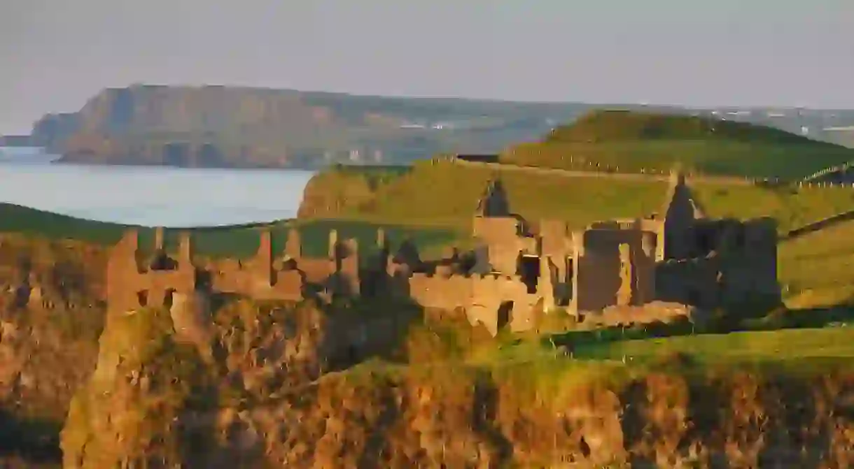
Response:
[[[0,0],[0,133],[132,83],[854,107],[854,0]]]

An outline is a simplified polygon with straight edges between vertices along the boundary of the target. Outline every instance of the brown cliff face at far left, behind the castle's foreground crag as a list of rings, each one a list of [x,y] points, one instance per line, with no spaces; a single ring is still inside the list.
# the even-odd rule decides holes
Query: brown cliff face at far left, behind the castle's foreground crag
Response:
[[[56,466],[59,430],[102,328],[104,253],[0,235],[0,466]]]

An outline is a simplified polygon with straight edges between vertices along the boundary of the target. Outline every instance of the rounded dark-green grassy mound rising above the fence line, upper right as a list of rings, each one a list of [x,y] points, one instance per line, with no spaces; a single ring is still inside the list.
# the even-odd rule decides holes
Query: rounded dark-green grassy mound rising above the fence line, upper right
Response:
[[[576,171],[668,172],[798,179],[854,159],[854,150],[783,130],[720,119],[595,111],[541,142],[512,147],[505,163]]]

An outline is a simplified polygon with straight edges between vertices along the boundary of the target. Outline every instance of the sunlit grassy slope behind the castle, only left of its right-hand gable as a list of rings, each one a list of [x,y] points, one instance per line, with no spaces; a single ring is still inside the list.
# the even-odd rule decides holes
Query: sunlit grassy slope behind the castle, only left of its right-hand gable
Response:
[[[667,183],[663,181],[612,181],[604,178],[568,178],[531,175],[520,171],[455,165],[448,159],[418,162],[412,171],[363,191],[360,199],[340,199],[338,205],[318,207],[326,218],[368,220],[407,226],[432,226],[466,232],[477,202],[490,179],[500,177],[512,211],[531,222],[543,218],[569,221],[581,229],[599,220],[642,217],[660,211]],[[312,191],[322,194],[347,192],[342,185],[364,186],[357,177],[318,176]],[[313,194],[308,194],[311,200]]]

